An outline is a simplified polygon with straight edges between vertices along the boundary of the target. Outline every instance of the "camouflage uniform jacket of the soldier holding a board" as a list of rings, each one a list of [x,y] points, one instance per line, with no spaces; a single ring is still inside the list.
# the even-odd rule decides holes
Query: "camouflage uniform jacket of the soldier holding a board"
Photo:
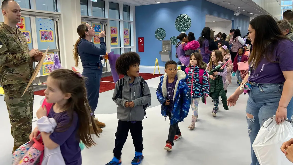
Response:
[[[0,25],[0,85],[28,83],[33,74],[25,36],[18,28]]]

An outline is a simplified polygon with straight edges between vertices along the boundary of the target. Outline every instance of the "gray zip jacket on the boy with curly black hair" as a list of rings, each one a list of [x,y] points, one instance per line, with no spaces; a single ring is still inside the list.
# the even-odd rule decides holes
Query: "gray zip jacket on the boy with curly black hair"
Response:
[[[143,105],[146,105],[151,100],[151,92],[149,90],[149,86],[147,82],[144,84],[144,90],[142,97],[142,91],[140,86],[139,77],[134,78],[132,85],[130,86],[129,81],[130,77],[124,75],[124,85],[122,87],[122,96],[120,93],[118,94],[118,98],[115,100],[115,96],[119,90],[119,81],[116,82],[114,93],[113,93],[113,101],[117,106],[117,118],[121,121],[137,121],[140,122],[144,119],[144,108]],[[125,102],[134,102],[133,108],[126,108]],[[149,106],[148,105],[148,106]]]

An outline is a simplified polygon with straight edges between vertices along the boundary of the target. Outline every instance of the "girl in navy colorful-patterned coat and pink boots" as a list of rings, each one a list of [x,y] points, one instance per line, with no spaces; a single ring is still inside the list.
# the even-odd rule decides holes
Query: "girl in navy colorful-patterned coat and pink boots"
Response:
[[[207,64],[202,61],[202,55],[200,53],[193,53],[190,56],[190,64],[185,72],[188,75],[187,85],[191,91],[191,104],[190,107],[193,110],[191,116],[191,124],[189,129],[195,128],[195,122],[198,118],[198,103],[200,97],[208,97],[209,95],[209,80],[205,69]]]

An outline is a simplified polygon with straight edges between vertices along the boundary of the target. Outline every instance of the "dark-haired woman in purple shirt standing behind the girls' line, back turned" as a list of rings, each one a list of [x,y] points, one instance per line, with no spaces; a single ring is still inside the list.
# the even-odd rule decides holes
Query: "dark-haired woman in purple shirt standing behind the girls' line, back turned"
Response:
[[[209,63],[209,56],[212,51],[209,50],[209,42],[211,40],[211,29],[209,27],[205,27],[202,29],[202,36],[198,38],[198,42],[200,43],[200,54],[202,54],[202,61],[205,63]]]

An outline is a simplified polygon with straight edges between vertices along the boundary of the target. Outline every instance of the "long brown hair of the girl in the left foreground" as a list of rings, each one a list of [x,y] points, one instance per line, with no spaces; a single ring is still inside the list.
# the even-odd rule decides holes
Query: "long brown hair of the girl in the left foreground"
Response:
[[[71,94],[67,103],[62,107],[68,113],[70,122],[68,125],[63,125],[62,130],[64,131],[64,129],[66,130],[71,126],[74,117],[73,112],[76,112],[78,116],[78,138],[87,148],[95,145],[96,143],[93,141],[90,133],[90,124],[92,124],[93,131],[97,137],[99,137],[99,133],[94,118],[91,116],[92,112],[88,100],[86,99],[84,78],[79,77],[72,70],[68,69],[54,70],[50,73],[50,77],[59,83],[59,88],[63,93]],[[57,129],[61,128],[57,126]]]

